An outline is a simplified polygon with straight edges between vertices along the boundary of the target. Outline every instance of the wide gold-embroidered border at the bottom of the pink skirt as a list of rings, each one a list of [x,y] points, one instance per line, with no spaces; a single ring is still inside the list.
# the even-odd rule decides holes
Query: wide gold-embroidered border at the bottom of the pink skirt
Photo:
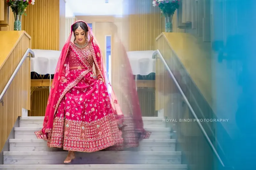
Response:
[[[58,110],[62,110],[61,107],[62,105]],[[67,125],[72,128],[66,128]],[[110,131],[107,129],[110,129]],[[123,143],[121,133],[118,131],[113,113],[89,124],[84,121],[77,122],[76,120],[64,119],[56,115],[51,134],[48,135],[47,145],[68,151],[100,151],[114,144]]]

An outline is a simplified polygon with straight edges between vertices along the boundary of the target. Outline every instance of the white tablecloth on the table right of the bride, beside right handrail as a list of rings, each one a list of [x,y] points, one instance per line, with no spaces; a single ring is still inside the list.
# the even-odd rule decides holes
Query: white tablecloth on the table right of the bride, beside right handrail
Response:
[[[156,73],[156,59],[152,58],[155,51],[128,51],[133,75],[148,75]]]

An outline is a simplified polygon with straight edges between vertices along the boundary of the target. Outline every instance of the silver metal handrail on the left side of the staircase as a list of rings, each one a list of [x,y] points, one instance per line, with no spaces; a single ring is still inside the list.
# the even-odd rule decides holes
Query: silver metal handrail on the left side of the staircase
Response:
[[[28,56],[28,53],[30,53],[29,56]],[[20,60],[20,62],[19,62],[19,64],[18,64],[18,66],[15,68],[15,70],[14,70],[14,72],[12,73],[12,75],[11,75],[9,81],[6,83],[6,85],[4,86],[3,91],[2,91],[1,94],[0,94],[0,103],[2,103],[2,105],[4,105],[4,100],[3,100],[4,94],[6,93],[7,89],[8,89],[9,86],[11,85],[11,83],[12,83],[12,81],[13,81],[15,75],[18,73],[18,71],[19,71],[19,69],[20,69],[20,66],[23,64],[23,62],[25,61],[25,59],[26,59],[27,57],[29,57],[29,59],[30,59],[31,57],[32,57],[32,58],[35,57],[34,52],[33,52],[30,48],[28,48],[28,49],[26,50],[26,52],[24,53],[24,55],[22,56],[22,58],[21,58],[21,60]]]

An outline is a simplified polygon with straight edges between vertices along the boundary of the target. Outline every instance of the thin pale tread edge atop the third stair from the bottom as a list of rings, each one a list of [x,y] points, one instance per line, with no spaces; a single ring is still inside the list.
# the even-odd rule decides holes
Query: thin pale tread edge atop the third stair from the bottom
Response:
[[[46,141],[43,140],[43,139],[9,139],[9,143],[17,143],[17,142],[41,143],[41,142],[46,142]],[[143,139],[143,140],[140,141],[140,143],[148,143],[148,142],[153,142],[153,143],[176,143],[176,139]]]

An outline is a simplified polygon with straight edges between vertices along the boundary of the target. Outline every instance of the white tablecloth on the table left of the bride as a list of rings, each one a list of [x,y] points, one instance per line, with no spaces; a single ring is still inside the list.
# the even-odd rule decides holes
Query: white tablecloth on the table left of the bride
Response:
[[[35,58],[31,58],[31,72],[54,74],[61,51],[33,49]]]

